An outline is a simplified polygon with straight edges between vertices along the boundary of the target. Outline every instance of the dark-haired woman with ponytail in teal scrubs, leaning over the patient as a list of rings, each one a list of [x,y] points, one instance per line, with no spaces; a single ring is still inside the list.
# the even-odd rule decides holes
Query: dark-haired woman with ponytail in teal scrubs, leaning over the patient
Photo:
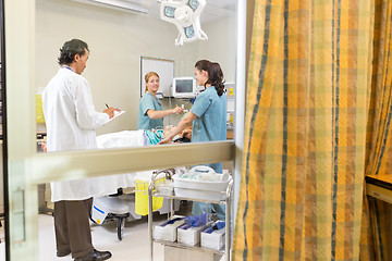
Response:
[[[228,100],[224,94],[223,73],[219,63],[200,60],[195,64],[195,77],[205,90],[196,97],[189,113],[172,128],[169,137],[160,144],[169,144],[172,138],[192,125],[192,142],[217,141],[226,139]],[[222,163],[206,164],[217,173],[222,173]],[[224,206],[212,204],[219,219],[224,219]],[[194,202],[193,214],[201,214],[206,203]],[[208,206],[211,210],[211,204]]]

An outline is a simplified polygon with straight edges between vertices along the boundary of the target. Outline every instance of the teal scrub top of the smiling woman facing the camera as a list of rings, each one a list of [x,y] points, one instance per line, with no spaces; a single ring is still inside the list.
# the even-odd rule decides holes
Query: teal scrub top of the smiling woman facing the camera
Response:
[[[162,105],[150,92],[146,91],[139,102],[139,112],[137,117],[137,129],[151,129],[163,127],[163,117],[152,120],[147,111],[162,111]]]

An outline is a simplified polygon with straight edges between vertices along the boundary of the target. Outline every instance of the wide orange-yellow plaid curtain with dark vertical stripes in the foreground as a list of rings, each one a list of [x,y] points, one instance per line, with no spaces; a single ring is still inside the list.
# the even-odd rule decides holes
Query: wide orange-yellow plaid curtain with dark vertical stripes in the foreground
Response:
[[[232,260],[358,260],[373,1],[256,0]]]

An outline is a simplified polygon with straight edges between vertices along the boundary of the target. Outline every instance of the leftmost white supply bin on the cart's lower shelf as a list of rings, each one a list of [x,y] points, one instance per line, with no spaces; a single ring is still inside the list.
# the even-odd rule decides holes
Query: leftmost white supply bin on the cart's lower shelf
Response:
[[[170,220],[156,225],[154,228],[154,238],[157,240],[176,241],[177,227],[184,224],[184,216],[174,215]]]

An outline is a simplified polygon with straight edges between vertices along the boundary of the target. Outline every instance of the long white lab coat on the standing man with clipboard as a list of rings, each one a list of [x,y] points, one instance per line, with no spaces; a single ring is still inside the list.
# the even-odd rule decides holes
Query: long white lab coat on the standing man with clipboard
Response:
[[[107,113],[97,112],[87,80],[69,67],[61,67],[42,94],[49,151],[97,148],[95,129],[109,122]],[[84,200],[115,192],[106,188],[105,177],[52,182],[52,201]]]

